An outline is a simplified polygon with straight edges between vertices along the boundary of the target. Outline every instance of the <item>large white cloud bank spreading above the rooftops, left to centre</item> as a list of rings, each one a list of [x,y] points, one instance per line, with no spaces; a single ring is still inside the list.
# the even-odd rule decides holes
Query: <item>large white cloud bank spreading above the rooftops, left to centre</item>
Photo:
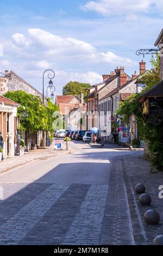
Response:
[[[69,81],[99,83],[102,75],[98,72],[110,72],[117,65],[133,67],[136,64],[111,51],[99,51],[88,42],[64,38],[39,28],[30,28],[26,34],[16,33],[4,39],[3,45],[2,70],[14,70],[41,90],[43,71],[53,69],[58,94]]]

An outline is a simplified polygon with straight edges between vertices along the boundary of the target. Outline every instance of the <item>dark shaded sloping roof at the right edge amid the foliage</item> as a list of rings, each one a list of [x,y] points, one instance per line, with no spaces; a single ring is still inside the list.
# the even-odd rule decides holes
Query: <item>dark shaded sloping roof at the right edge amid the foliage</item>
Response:
[[[163,97],[163,80],[142,94],[140,99],[147,97]]]

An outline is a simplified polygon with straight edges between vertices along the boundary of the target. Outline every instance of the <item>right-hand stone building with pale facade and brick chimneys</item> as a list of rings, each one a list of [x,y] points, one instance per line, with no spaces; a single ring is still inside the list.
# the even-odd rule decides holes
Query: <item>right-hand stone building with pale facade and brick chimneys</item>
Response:
[[[104,138],[104,140],[108,140],[111,133],[117,131],[117,119],[115,114],[119,108],[120,101],[126,100],[128,96],[137,93],[138,90],[140,92],[140,90],[142,90],[142,88],[145,86],[144,84],[137,83],[137,79],[140,79],[145,71],[146,63],[142,60],[142,62],[140,62],[139,75],[137,75],[135,71],[131,80],[128,80],[126,74],[120,75],[120,80],[122,79],[122,82],[114,90],[111,90],[111,92],[98,99],[99,131],[100,136]],[[124,124],[123,118],[119,121],[119,123],[121,129],[122,127],[125,127],[125,132],[123,132],[123,135],[128,136],[128,127],[126,127],[126,124]],[[132,129],[129,136],[130,140],[132,140],[133,138],[137,137],[137,125],[134,116],[130,117],[130,123]]]

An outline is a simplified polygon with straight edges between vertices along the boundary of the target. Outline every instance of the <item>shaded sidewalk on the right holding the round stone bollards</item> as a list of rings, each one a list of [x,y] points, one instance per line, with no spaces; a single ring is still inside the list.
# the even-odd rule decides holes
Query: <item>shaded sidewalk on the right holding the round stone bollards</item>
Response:
[[[151,245],[157,235],[163,235],[163,199],[159,199],[159,186],[163,185],[163,173],[151,173],[151,163],[141,156],[122,157],[124,182],[126,184],[131,223],[134,240],[138,245]],[[152,198],[150,206],[141,206],[139,194],[134,187],[142,183],[146,187],[146,193]],[[160,215],[157,225],[147,225],[143,215],[149,209],[154,209]]]

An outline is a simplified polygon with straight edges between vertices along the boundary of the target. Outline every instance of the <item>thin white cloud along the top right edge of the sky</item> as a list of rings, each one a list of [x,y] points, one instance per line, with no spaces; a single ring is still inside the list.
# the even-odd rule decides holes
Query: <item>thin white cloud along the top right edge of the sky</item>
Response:
[[[162,0],[98,0],[89,1],[81,8],[108,16],[144,12],[154,6],[158,9],[163,7]]]

